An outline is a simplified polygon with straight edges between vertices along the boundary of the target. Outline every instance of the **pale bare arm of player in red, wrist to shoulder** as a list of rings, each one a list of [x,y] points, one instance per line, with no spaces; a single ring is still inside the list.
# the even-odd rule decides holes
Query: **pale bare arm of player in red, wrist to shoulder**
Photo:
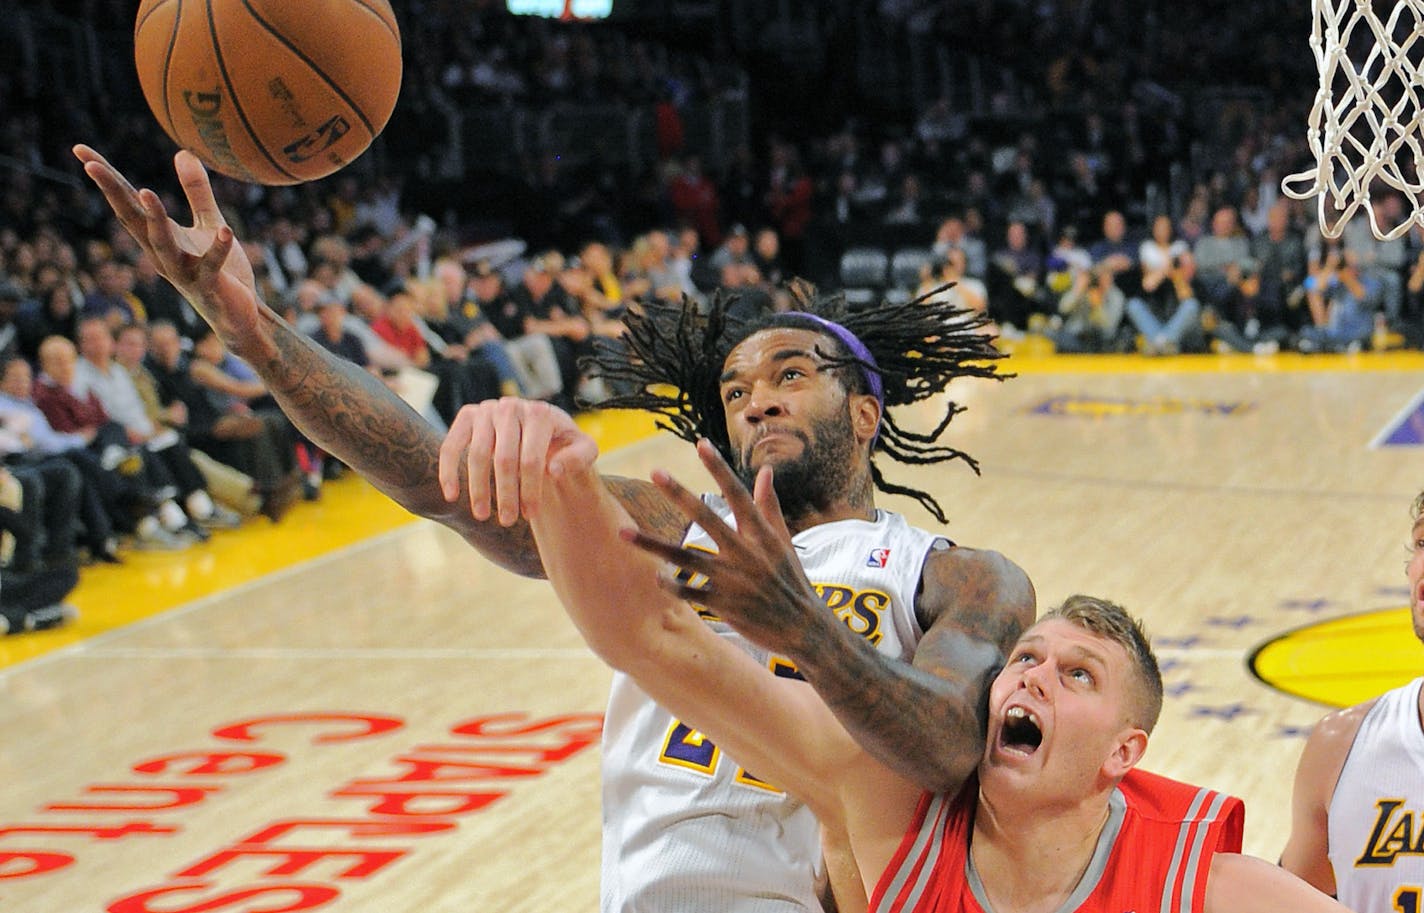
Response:
[[[550,581],[590,647],[740,766],[805,802],[827,839],[836,902],[847,912],[864,909],[904,835],[918,786],[857,746],[805,682],[772,675],[715,634],[669,594],[681,584],[664,575],[659,585],[661,563],[618,537],[628,516],[592,471],[568,473],[553,489],[531,526]],[[591,551],[602,560],[588,561]],[[711,585],[745,594],[722,574]],[[806,590],[815,600],[809,584]]]

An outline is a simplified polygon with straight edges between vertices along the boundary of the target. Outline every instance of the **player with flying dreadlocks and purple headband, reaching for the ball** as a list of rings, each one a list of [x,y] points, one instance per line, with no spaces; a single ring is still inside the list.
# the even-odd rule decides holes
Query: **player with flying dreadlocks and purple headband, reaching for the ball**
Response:
[[[293,330],[259,299],[252,265],[192,154],[175,158],[192,208],[189,226],[168,218],[155,192],[135,189],[94,150],[77,147],[75,155],[164,278],[253,366],[309,440],[406,510],[457,531],[488,560],[544,575],[525,518],[538,510],[538,480],[551,453],[590,446],[567,414],[547,403],[491,400],[461,410],[441,443],[384,385]],[[948,547],[876,508],[870,457],[873,449],[911,460],[957,456],[936,444],[944,422],[914,434],[881,422],[884,406],[924,399],[953,376],[983,376],[978,362],[991,352],[970,336],[973,320],[926,305],[856,315],[826,309],[780,323],[787,319],[770,318],[756,329],[729,320],[722,306],[705,320],[656,308],[639,316],[635,309],[628,343],[638,366],[625,367],[652,373],[628,379],[676,382],[676,370],[698,365],[679,387],[686,403],[668,403],[675,429],[685,436],[705,429],[749,471],[770,466],[789,477],[799,463],[806,467],[805,483],[782,481],[803,497],[790,523],[793,541],[806,574],[820,584],[827,615],[864,637],[850,638],[853,649],[826,640],[824,649],[800,652],[799,671],[877,758],[938,789],[963,769],[965,752],[978,756],[978,746],[941,744],[936,735],[984,732],[984,684],[1031,621],[1032,587],[1001,555]],[[668,358],[679,366],[655,369]],[[622,370],[605,367],[614,376]],[[711,444],[699,452],[721,459]],[[648,536],[709,544],[656,484],[600,483]],[[795,494],[787,501],[795,506]],[[722,630],[715,618],[708,624]],[[884,712],[904,685],[891,664],[911,654],[936,699]],[[960,725],[947,725],[953,721]],[[819,909],[826,863],[806,808],[740,771],[627,679],[609,702],[604,776],[605,912]],[[826,856],[837,892],[849,886],[842,906],[864,909],[843,835],[829,835]]]

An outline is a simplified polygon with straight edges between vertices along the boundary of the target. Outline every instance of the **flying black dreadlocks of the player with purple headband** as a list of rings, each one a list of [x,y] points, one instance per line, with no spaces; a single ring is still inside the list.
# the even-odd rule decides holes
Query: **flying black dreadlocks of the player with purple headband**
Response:
[[[946,286],[948,288],[948,286]],[[658,427],[695,443],[706,437],[735,463],[721,395],[723,363],[732,349],[756,332],[773,328],[807,329],[824,345],[816,346],[827,367],[836,370],[852,393],[870,393],[866,372],[877,372],[884,385],[880,432],[871,444],[870,476],[887,494],[903,494],[923,504],[936,520],[944,510],[930,494],[889,481],[876,464],[876,452],[906,464],[964,460],[978,473],[967,453],[940,444],[950,420],[964,410],[953,402],[928,432],[900,426],[890,412],[941,393],[954,377],[1002,380],[994,362],[1002,358],[978,329],[988,318],[948,302],[934,301],[934,289],[904,303],[880,303],[852,309],[843,293],[816,295],[810,286],[789,286],[799,311],[844,326],[874,359],[856,358],[846,345],[816,320],[776,312],[770,298],[756,293],[718,291],[703,311],[686,298],[681,303],[641,302],[624,316],[619,342],[600,339],[587,359],[592,373],[602,376],[618,393],[601,403],[604,409],[639,409],[659,416]],[[621,345],[619,345],[621,343]]]

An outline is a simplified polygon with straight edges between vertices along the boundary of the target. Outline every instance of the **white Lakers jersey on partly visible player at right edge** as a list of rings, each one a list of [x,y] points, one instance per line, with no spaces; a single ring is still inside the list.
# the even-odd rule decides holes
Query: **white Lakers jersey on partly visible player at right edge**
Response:
[[[1330,796],[1336,896],[1357,913],[1424,913],[1424,729],[1417,678],[1364,715]]]

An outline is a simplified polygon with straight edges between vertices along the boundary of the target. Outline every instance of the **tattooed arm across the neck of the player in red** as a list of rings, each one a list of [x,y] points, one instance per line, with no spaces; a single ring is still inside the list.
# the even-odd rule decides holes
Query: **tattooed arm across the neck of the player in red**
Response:
[[[702,593],[684,587],[678,595],[708,605],[750,640],[796,662],[840,724],[877,761],[924,789],[957,791],[984,751],[990,681],[1034,620],[1034,588],[1024,571],[993,551],[953,548],[931,554],[916,604],[928,630],[914,665],[901,662],[824,611],[805,583],[795,553],[778,547],[783,531],[758,523],[745,489],[711,444],[702,442],[698,453],[728,501],[742,504],[738,533],[753,540],[753,547],[738,558],[752,570],[745,588],[713,584]],[[672,479],[655,476],[654,483],[709,533],[712,526],[722,526]],[[775,501],[770,490],[760,491],[760,480],[758,489],[758,504]],[[731,560],[722,541],[719,558],[699,557],[651,537],[639,543],[703,574]]]

